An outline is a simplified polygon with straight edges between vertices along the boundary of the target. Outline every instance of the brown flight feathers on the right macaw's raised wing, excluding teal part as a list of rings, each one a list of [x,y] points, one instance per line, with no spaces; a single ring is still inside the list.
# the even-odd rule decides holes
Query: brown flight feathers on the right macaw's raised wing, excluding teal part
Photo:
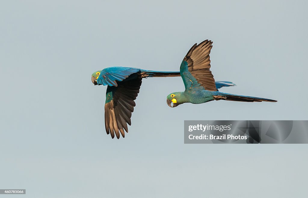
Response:
[[[197,43],[188,51],[184,61],[188,63],[188,71],[206,90],[217,91],[211,67],[210,52],[211,41],[205,40],[199,45]]]

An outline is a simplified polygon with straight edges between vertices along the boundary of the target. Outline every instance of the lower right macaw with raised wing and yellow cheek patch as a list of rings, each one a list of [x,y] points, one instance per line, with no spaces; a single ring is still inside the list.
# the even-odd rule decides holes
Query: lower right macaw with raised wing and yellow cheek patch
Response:
[[[234,95],[218,91],[212,72],[210,71],[211,41],[197,43],[188,51],[180,66],[180,74],[185,91],[173,92],[167,96],[169,107],[183,103],[201,104],[212,100],[232,100],[241,102],[277,102],[277,100],[257,98],[245,95]]]

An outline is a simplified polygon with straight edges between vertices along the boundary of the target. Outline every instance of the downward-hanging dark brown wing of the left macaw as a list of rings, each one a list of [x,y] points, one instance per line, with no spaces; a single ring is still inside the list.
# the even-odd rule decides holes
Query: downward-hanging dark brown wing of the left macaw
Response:
[[[127,124],[131,125],[132,112],[141,86],[141,78],[119,82],[117,87],[108,86],[105,102],[105,127],[107,134],[123,138],[124,130],[128,132]]]

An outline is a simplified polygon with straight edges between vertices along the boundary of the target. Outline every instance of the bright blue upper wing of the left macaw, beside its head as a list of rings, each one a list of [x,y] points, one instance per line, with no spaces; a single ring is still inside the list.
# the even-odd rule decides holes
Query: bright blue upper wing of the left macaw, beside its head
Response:
[[[97,84],[109,85],[109,86],[118,86],[117,81],[122,81],[126,79],[129,75],[139,72],[139,68],[130,68],[130,67],[109,67],[105,68],[100,72],[100,75],[97,79]]]

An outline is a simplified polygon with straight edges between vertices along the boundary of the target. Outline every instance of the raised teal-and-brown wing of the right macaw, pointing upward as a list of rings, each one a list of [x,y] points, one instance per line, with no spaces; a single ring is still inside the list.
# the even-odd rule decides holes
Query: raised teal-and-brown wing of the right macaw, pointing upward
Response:
[[[188,51],[180,67],[180,73],[186,90],[201,89],[217,91],[215,80],[210,71],[211,41],[197,43]]]

